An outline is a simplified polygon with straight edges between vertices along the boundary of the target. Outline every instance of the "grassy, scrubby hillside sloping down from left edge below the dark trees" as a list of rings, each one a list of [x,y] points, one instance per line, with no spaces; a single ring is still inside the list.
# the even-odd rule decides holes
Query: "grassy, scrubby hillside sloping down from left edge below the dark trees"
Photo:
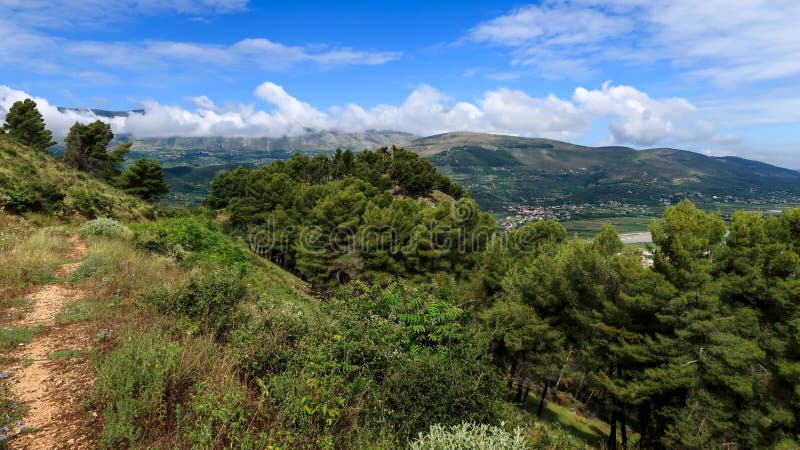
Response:
[[[132,219],[151,207],[52,156],[0,136],[0,208],[12,213]]]

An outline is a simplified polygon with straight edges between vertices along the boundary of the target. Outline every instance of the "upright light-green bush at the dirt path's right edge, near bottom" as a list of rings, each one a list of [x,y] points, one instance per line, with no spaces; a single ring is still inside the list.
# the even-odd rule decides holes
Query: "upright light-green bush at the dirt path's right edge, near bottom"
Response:
[[[123,337],[102,358],[91,398],[103,411],[101,447],[130,447],[165,423],[179,359],[180,347],[159,333]]]

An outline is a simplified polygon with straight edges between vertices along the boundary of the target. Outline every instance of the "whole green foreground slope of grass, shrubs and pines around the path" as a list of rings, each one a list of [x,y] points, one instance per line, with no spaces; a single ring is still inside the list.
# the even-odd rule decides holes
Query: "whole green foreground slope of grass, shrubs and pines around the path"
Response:
[[[34,175],[64,172],[133,205],[89,222],[59,209],[0,212],[10,269],[0,273],[0,345],[74,327],[88,347],[55,349],[46,364],[96,377],[80,394],[90,412],[75,428],[87,430],[81,442],[798,441],[800,210],[726,224],[683,201],[651,226],[650,268],[610,226],[592,241],[568,239],[555,221],[500,233],[457,185],[399,149],[234,170],[214,182],[212,209],[157,220],[50,156],[26,158]],[[76,235],[86,244],[77,261]],[[53,324],[24,328],[43,286],[80,294]],[[15,355],[0,359],[0,426],[13,430],[0,442],[12,445],[51,435],[16,425],[28,413],[9,382],[31,362]]]

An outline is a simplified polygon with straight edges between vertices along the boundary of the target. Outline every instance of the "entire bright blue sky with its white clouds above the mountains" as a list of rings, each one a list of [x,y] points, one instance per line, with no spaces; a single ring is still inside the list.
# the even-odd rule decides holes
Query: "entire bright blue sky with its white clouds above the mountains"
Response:
[[[0,114],[56,134],[472,130],[800,168],[795,0],[0,0]]]

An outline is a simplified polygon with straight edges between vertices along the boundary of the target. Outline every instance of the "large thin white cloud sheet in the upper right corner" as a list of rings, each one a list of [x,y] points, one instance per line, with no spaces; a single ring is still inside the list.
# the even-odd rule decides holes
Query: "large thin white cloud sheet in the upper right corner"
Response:
[[[481,23],[467,38],[507,46],[512,64],[542,75],[667,60],[691,76],[740,85],[800,76],[798,17],[796,0],[545,0]]]

